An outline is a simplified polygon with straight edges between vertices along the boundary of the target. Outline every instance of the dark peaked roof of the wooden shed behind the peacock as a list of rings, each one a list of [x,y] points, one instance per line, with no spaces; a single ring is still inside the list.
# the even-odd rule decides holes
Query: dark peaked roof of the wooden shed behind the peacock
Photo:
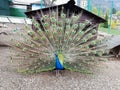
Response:
[[[29,18],[33,18],[35,17],[35,19],[38,21],[38,22],[41,22],[40,18],[41,18],[41,11],[43,12],[43,14],[49,14],[49,12],[51,11],[56,11],[56,9],[58,9],[58,12],[64,12],[67,14],[67,17],[66,18],[69,18],[71,17],[72,14],[79,14],[82,12],[82,16],[81,18],[79,19],[78,23],[82,23],[84,22],[85,20],[91,20],[91,25],[95,25],[95,24],[100,24],[100,23],[103,23],[105,22],[105,20],[79,6],[76,6],[76,5],[71,5],[66,3],[66,4],[61,4],[61,5],[56,5],[56,6],[52,6],[52,7],[49,7],[49,8],[43,8],[43,9],[39,9],[39,10],[33,10],[33,11],[29,11],[29,12],[26,12],[25,14],[29,17]],[[38,15],[39,14],[39,15]],[[87,26],[86,28],[89,28],[89,26]],[[98,26],[96,26],[94,29],[98,30]]]

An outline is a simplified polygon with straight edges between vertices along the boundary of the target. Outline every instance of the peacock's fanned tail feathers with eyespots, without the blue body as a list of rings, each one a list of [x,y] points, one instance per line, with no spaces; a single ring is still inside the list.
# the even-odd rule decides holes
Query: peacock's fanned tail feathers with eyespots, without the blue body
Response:
[[[56,69],[55,52],[64,55],[63,67],[73,71],[87,68],[90,64],[89,60],[96,60],[96,57],[103,55],[104,52],[98,52],[95,49],[95,45],[99,42],[93,42],[91,46],[94,40],[90,38],[96,33],[96,28],[91,26],[93,30],[89,32],[83,30],[86,24],[91,23],[90,20],[78,23],[81,18],[80,14],[67,16],[68,14],[66,15],[64,11],[50,10],[49,14],[40,15],[40,22],[32,18],[33,26],[37,27],[36,30],[26,25],[29,32],[25,43],[16,42],[18,45],[14,46],[26,53],[25,59],[30,61],[27,72],[40,73]],[[25,35],[21,34],[21,36],[23,38]]]

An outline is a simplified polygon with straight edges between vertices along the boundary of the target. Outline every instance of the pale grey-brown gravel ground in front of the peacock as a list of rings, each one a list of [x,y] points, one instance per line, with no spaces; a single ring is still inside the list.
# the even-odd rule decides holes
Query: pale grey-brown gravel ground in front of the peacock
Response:
[[[120,90],[120,60],[99,64],[93,75],[64,71],[24,75],[15,71],[9,47],[0,47],[0,90]]]

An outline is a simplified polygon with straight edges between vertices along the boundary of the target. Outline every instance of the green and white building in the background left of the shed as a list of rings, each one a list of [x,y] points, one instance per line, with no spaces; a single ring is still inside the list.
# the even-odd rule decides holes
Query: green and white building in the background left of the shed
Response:
[[[0,15],[26,17],[24,12],[30,10],[36,10],[49,6],[50,0],[43,0],[40,2],[26,3],[19,2],[19,0],[1,0],[0,3]]]

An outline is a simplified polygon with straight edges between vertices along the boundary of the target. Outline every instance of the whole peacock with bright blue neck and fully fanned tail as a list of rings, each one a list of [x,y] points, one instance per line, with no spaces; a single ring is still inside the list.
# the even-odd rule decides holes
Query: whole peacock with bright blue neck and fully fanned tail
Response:
[[[40,16],[42,15],[42,16]],[[82,12],[70,17],[64,12],[50,11],[32,18],[33,25],[25,23],[22,31],[15,30],[23,41],[11,39],[11,60],[20,61],[20,71],[40,73],[50,70],[70,70],[90,73],[99,60],[104,59],[105,46],[99,46],[96,27],[91,20],[79,22]],[[89,28],[86,28],[88,25]]]

